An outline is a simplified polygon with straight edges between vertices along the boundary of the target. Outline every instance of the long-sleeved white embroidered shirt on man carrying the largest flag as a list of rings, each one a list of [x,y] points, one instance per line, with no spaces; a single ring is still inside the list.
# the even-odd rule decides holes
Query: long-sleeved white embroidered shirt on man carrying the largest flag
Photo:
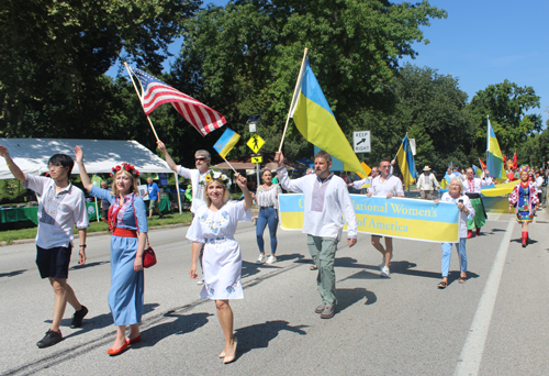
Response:
[[[338,239],[344,226],[343,214],[348,224],[347,237],[357,237],[357,217],[347,185],[340,177],[334,175],[329,178],[329,183],[323,188],[322,201],[313,200],[315,185],[317,188],[323,185],[316,174],[290,180],[285,167],[281,167],[278,169],[278,178],[282,188],[292,192],[302,192],[305,198],[303,233]],[[313,210],[314,203],[320,204],[321,211]]]

